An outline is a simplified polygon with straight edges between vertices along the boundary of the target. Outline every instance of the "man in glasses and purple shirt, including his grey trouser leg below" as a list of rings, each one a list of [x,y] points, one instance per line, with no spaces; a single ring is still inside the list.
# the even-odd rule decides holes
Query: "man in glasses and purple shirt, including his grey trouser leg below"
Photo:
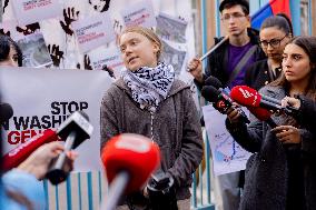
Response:
[[[254,62],[265,59],[258,46],[258,32],[250,26],[249,3],[246,0],[224,0],[219,6],[221,23],[228,40],[208,56],[207,67],[203,73],[201,61],[192,59],[188,71],[195,77],[198,89],[209,77],[216,77],[224,86],[244,84],[246,69]],[[215,39],[218,43],[221,39]],[[236,210],[240,200],[239,172],[215,178],[216,209]]]

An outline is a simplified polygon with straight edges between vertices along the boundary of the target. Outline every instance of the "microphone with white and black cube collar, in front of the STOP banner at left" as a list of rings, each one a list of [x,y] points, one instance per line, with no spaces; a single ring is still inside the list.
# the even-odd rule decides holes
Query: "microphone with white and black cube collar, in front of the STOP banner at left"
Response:
[[[72,170],[72,161],[66,152],[76,149],[82,141],[89,139],[93,127],[89,123],[89,118],[83,111],[73,112],[60,124],[57,132],[61,139],[66,139],[65,151],[51,161],[46,174],[52,184],[58,184],[67,179]]]

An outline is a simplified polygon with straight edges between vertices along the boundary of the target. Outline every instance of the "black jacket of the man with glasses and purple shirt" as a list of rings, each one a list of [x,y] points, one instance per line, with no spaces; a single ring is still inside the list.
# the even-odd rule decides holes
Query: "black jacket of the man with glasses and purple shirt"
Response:
[[[248,36],[250,38],[250,42],[254,44],[258,44],[258,32],[254,29],[248,29]],[[224,38],[215,38],[215,43],[218,43],[221,39]],[[228,50],[229,47],[229,40],[225,41],[220,47],[217,48],[214,52],[211,52],[208,56],[207,60],[207,66],[205,69],[205,74],[204,74],[204,81],[209,77],[216,77],[223,86],[227,86],[227,82],[229,80],[229,74],[225,71],[227,69],[227,61],[225,58],[226,51]],[[264,51],[261,48],[258,46],[258,48],[255,51],[255,60],[263,60],[266,58]],[[200,83],[195,80],[195,83],[197,84],[198,89],[201,89],[204,86],[204,82]]]

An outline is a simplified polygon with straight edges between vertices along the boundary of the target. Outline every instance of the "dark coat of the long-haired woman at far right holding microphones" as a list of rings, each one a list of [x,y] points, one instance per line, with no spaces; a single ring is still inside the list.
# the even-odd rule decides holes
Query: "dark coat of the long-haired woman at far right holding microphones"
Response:
[[[267,86],[260,89],[260,93],[283,99],[286,93],[283,88]],[[315,110],[315,109],[314,109]],[[286,124],[284,116],[274,114],[273,120],[277,124]],[[276,136],[270,131],[266,122],[254,118],[247,127],[245,123],[229,123],[226,126],[233,138],[247,151],[254,154],[249,158],[246,166],[246,183],[239,210],[288,210],[286,203],[296,202],[287,200],[289,197],[288,182],[293,172],[299,172],[303,178],[297,180],[304,183],[302,196],[305,199],[305,207],[296,209],[316,209],[316,139],[315,133],[300,124],[300,144],[292,151],[299,152],[296,160],[299,161],[299,171],[289,171],[288,148],[284,147]],[[292,182],[293,183],[293,182]]]

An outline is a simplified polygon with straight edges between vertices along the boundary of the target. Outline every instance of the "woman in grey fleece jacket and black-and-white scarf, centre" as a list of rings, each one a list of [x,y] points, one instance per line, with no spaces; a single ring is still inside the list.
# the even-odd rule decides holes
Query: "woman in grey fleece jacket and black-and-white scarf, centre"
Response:
[[[190,208],[191,174],[203,158],[198,112],[188,86],[159,60],[161,41],[150,29],[127,28],[119,37],[126,69],[101,102],[101,148],[119,133],[149,137],[161,151],[160,168],[175,181],[179,209]],[[146,207],[147,188],[128,196],[125,206]],[[161,201],[164,202],[164,201]]]

